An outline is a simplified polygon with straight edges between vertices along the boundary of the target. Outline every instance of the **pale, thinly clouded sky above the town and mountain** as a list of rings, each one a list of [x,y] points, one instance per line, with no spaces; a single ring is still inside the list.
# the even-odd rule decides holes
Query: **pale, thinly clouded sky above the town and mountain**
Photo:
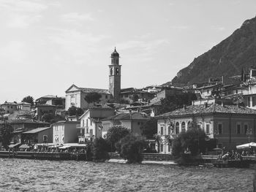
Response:
[[[108,89],[114,47],[121,88],[161,85],[254,18],[255,0],[0,0],[0,104]]]

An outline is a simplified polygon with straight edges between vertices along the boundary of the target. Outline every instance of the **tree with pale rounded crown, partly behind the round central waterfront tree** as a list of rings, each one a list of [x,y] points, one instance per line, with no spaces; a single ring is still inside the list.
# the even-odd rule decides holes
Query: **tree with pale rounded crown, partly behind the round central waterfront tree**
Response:
[[[125,128],[124,126],[113,126],[108,129],[107,134],[105,135],[105,139],[110,143],[111,152],[116,151],[116,142],[127,136],[129,133],[129,129]]]

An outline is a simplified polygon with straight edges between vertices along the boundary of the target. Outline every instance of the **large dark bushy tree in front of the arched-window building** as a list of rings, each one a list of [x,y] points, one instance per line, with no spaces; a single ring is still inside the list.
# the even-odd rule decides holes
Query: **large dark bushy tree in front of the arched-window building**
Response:
[[[172,152],[179,164],[191,163],[199,153],[206,150],[206,133],[201,128],[189,128],[181,131],[173,139]]]

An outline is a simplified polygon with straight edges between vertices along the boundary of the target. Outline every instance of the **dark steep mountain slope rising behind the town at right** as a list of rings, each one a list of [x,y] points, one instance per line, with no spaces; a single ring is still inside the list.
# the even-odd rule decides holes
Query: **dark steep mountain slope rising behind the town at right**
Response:
[[[173,84],[191,85],[208,82],[209,77],[229,77],[241,74],[241,69],[256,66],[256,18],[244,21],[230,37],[203,53],[173,78]]]

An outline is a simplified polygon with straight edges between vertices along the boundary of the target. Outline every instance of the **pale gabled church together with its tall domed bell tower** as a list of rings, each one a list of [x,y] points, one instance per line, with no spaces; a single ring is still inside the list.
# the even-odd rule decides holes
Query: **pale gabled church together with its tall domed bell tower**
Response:
[[[88,93],[99,93],[102,97],[99,99],[99,104],[105,104],[110,99],[118,101],[121,93],[121,65],[119,65],[119,53],[116,51],[111,54],[111,64],[109,65],[109,88],[80,88],[77,85],[71,85],[66,91],[66,107],[80,107],[83,110],[93,107],[94,104],[89,104],[84,98]]]

